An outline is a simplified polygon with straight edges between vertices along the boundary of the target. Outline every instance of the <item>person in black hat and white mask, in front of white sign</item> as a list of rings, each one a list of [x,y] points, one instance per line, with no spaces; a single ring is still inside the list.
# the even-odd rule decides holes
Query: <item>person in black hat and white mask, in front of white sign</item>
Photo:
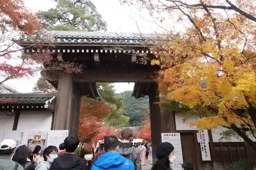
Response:
[[[174,146],[169,142],[163,142],[158,145],[157,161],[153,164],[151,170],[172,170],[171,165],[176,159],[174,155]]]

